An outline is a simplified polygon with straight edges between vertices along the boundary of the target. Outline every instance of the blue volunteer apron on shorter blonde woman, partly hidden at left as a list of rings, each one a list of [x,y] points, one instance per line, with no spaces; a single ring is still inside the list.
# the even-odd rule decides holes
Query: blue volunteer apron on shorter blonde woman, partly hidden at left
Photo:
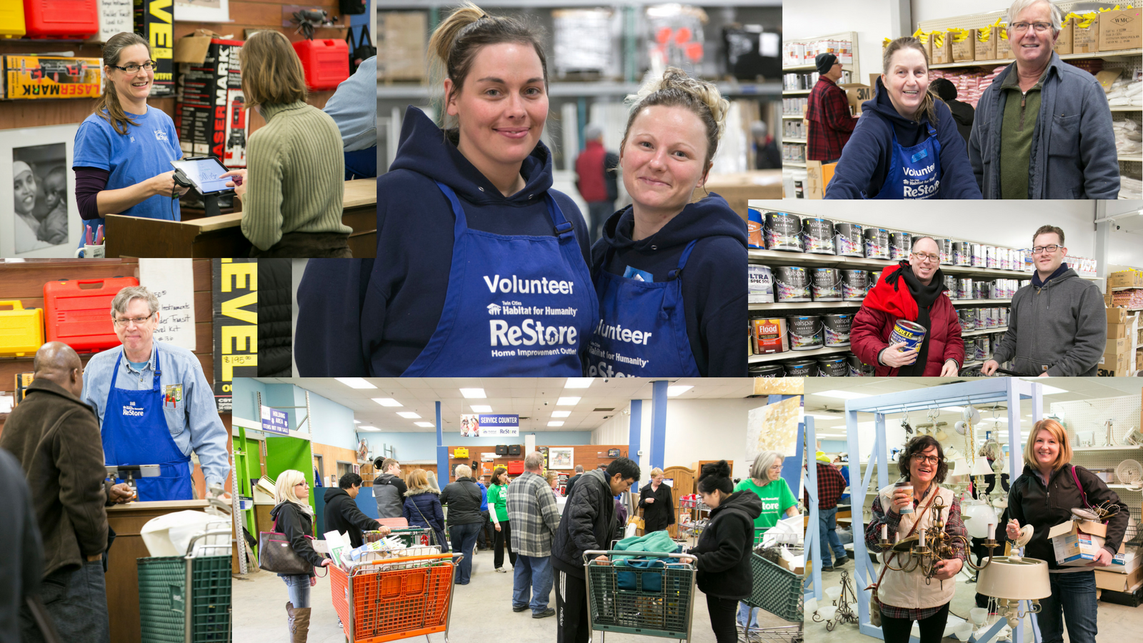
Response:
[[[604,254],[596,293],[599,323],[588,344],[592,378],[697,378],[698,364],[687,339],[682,281],[697,239],[687,244],[666,281],[640,281],[607,271],[614,249]]]

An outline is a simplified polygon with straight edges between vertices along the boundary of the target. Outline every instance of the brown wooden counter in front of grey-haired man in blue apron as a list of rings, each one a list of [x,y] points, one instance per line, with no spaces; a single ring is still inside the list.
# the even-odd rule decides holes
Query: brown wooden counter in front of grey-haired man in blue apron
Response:
[[[115,643],[141,643],[138,566],[136,558],[151,554],[143,543],[139,531],[151,518],[173,511],[206,509],[206,500],[170,500],[157,502],[128,502],[107,507],[107,524],[115,532],[115,541],[107,555],[107,620],[111,640]]]

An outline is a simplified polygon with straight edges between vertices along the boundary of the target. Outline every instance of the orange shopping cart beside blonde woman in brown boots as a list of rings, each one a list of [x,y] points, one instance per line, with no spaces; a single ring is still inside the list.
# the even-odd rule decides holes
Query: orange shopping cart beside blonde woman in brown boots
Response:
[[[430,530],[431,531],[431,530]],[[349,643],[382,643],[445,633],[453,613],[453,572],[461,554],[387,557],[345,571],[330,565],[334,609]]]

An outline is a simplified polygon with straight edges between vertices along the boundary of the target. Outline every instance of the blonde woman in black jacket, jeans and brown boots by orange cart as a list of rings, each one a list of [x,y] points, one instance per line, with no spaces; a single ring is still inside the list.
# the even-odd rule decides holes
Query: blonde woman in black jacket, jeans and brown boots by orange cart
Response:
[[[313,508],[309,505],[310,484],[302,471],[286,469],[278,475],[274,502],[270,510],[274,531],[286,535],[289,546],[303,561],[315,567],[333,564],[313,550]],[[305,643],[310,632],[310,588],[318,584],[313,570],[304,574],[278,574],[289,592],[286,613],[289,614],[290,643]]]

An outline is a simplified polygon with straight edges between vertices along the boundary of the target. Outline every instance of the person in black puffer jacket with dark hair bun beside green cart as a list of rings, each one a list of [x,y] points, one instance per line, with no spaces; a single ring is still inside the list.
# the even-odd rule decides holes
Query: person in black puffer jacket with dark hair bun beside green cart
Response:
[[[706,594],[706,611],[718,643],[738,637],[735,611],[754,587],[750,550],[754,543],[754,518],[762,501],[751,491],[734,491],[726,460],[703,465],[698,494],[711,507],[710,524],[689,553],[697,561],[698,589]]]

